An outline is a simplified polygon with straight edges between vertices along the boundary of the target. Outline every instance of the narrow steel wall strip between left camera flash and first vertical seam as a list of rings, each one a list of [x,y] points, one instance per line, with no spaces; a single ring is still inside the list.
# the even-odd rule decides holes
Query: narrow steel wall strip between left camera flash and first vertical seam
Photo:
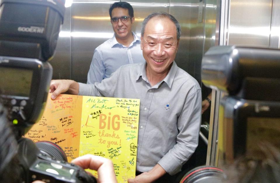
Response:
[[[71,79],[71,7],[65,9],[64,21],[60,29],[53,59],[53,79]]]

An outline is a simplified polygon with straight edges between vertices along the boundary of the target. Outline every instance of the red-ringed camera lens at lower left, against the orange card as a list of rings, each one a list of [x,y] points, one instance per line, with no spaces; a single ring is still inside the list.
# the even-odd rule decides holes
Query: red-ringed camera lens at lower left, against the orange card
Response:
[[[36,142],[36,146],[42,152],[50,156],[51,158],[55,158],[56,160],[66,161],[67,156],[60,146],[50,141],[39,141]]]

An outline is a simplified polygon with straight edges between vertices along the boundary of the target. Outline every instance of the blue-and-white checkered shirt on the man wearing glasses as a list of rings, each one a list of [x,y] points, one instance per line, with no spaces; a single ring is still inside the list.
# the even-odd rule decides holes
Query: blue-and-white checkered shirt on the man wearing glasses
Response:
[[[114,34],[94,50],[87,84],[100,83],[122,65],[145,62],[140,47],[141,41],[136,34],[132,34],[134,40],[128,47],[119,44]]]

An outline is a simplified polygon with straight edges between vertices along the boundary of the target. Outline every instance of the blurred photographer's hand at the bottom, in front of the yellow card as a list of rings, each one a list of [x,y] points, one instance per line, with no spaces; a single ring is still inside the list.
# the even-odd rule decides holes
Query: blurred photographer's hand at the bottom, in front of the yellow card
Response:
[[[87,154],[72,160],[71,163],[84,169],[97,170],[99,183],[117,183],[113,163],[107,158]]]

